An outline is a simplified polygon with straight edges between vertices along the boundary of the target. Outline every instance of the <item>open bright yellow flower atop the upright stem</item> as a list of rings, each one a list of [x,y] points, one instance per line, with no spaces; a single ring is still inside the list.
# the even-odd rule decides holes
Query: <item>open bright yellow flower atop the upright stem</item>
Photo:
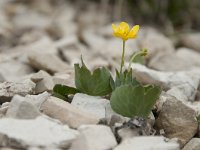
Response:
[[[113,35],[124,41],[136,38],[139,28],[139,25],[135,25],[130,30],[129,25],[126,22],[121,22],[118,27],[112,24]]]

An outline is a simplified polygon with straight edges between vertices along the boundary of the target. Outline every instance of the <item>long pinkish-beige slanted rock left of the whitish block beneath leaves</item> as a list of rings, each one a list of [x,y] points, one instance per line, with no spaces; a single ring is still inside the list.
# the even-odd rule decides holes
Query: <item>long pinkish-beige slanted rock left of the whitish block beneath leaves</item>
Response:
[[[44,114],[58,119],[72,128],[78,128],[83,124],[97,124],[99,122],[99,118],[96,116],[84,112],[68,102],[56,97],[50,97],[47,99],[42,104],[40,110]]]

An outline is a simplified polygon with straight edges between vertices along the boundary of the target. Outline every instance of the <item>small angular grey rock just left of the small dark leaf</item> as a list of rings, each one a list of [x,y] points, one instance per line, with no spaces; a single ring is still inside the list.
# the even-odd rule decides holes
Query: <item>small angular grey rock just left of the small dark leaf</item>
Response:
[[[44,91],[52,91],[54,87],[54,82],[47,72],[40,70],[39,72],[33,74],[31,80],[35,82],[35,94],[42,93]]]

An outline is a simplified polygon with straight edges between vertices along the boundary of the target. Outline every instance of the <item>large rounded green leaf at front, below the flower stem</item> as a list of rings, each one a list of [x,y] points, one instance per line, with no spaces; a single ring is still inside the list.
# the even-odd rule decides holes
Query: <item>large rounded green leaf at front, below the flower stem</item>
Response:
[[[145,87],[122,85],[112,93],[110,103],[112,109],[125,117],[147,118],[160,95],[160,88],[157,86]]]

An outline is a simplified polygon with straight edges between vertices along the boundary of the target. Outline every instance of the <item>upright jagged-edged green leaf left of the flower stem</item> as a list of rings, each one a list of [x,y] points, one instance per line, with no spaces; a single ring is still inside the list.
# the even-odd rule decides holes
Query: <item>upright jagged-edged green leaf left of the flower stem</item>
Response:
[[[82,93],[93,96],[105,96],[111,93],[112,76],[105,67],[97,68],[94,72],[86,67],[82,60],[82,66],[74,65],[75,68],[75,85]]]

